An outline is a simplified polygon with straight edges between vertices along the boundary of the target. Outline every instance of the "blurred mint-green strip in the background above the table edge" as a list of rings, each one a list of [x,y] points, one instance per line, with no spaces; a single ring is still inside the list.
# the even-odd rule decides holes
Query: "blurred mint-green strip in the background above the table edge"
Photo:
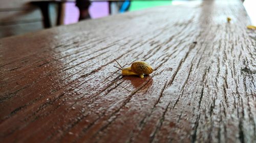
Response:
[[[129,11],[172,5],[172,1],[132,1]]]

